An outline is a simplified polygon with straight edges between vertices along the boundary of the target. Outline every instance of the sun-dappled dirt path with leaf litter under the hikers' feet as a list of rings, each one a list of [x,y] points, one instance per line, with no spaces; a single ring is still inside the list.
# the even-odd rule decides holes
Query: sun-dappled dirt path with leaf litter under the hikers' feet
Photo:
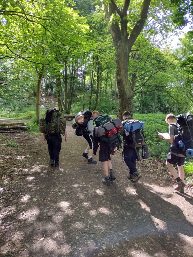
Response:
[[[0,256],[193,256],[192,190],[174,192],[165,166],[151,160],[137,163],[143,178],[133,185],[121,152],[107,187],[102,164],[87,164],[87,143],[73,132],[68,122],[60,169],[48,166],[41,135],[0,141]],[[6,146],[13,137],[19,148]]]

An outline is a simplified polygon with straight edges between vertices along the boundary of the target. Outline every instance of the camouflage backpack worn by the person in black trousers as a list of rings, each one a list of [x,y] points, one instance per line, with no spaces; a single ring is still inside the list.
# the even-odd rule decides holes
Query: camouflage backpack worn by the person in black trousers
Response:
[[[48,110],[49,111],[49,110]],[[48,112],[47,111],[47,112]],[[45,132],[46,135],[64,135],[66,129],[66,119],[61,116],[61,113],[58,110],[50,110],[51,117],[50,121],[46,119],[40,119],[39,130],[41,133]]]

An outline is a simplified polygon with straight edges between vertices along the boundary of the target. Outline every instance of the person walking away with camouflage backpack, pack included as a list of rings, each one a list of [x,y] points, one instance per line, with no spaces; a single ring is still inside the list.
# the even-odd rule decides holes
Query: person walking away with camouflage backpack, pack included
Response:
[[[67,142],[66,121],[64,118],[60,118],[60,115],[58,109],[48,109],[45,119],[41,119],[39,125],[43,140],[47,141],[48,144],[50,165],[55,164],[56,168],[59,168],[59,154],[62,146],[61,134],[65,136],[65,142]]]

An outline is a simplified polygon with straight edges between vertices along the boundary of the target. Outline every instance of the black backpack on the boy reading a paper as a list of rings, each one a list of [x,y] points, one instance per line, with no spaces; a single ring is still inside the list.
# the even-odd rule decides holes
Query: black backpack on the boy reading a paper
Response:
[[[193,115],[189,113],[179,114],[176,119],[176,125],[172,124],[178,128],[178,135],[174,136],[174,143],[175,146],[177,146],[178,151],[186,155],[186,150],[193,148]],[[181,149],[181,151],[178,144],[180,140],[184,143],[183,149]],[[171,150],[174,152],[172,148]]]

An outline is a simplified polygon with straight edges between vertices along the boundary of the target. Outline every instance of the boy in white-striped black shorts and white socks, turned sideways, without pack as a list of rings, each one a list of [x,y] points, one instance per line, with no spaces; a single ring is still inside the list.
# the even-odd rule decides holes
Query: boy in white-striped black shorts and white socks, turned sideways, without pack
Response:
[[[88,121],[85,133],[83,133],[83,137],[86,139],[86,141],[89,143],[86,150],[83,152],[82,156],[87,159],[87,163],[96,164],[97,161],[93,160],[92,154],[93,154],[93,130],[94,130],[94,118],[99,115],[98,111],[92,112],[92,118]]]

